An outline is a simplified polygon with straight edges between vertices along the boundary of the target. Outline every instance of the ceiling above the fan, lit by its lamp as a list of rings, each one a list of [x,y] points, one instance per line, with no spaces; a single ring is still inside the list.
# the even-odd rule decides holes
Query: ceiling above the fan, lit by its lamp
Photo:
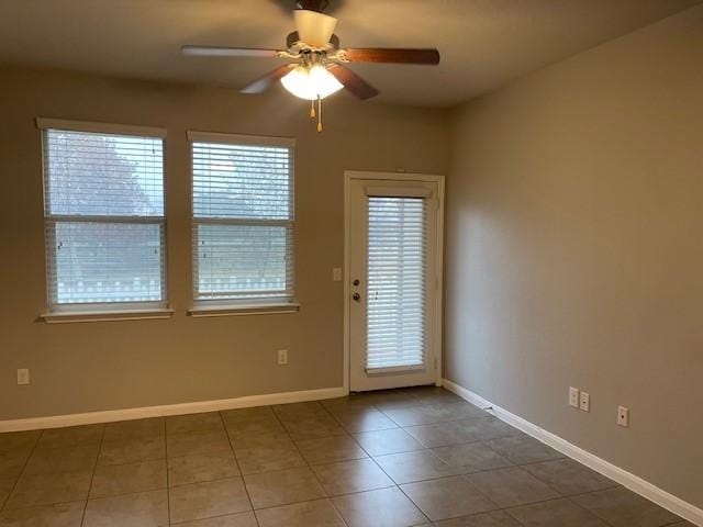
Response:
[[[442,64],[354,65],[383,102],[449,106],[702,0],[332,0],[348,47],[437,47]],[[283,47],[293,0],[0,0],[0,64],[239,88],[279,59],[186,58],[182,44]]]

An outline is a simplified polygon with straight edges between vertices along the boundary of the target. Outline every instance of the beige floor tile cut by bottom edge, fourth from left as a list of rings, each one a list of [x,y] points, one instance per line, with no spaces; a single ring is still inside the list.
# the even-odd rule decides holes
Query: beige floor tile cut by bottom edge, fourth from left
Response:
[[[260,527],[345,527],[328,500],[264,508],[256,517]]]

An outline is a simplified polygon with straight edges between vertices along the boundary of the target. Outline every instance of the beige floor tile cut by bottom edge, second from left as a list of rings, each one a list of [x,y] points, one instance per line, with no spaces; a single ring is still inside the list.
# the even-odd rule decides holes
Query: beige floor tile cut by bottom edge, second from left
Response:
[[[165,490],[89,500],[83,527],[161,527],[168,525]]]

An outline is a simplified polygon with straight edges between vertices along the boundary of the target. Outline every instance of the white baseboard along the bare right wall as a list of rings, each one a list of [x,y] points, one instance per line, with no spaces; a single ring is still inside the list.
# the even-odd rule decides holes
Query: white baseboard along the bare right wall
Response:
[[[688,502],[684,502],[683,500],[674,496],[673,494],[669,494],[668,492],[659,489],[648,481],[645,481],[641,478],[632,474],[626,470],[623,470],[620,467],[616,467],[613,463],[605,461],[604,459],[601,459],[598,456],[583,450],[582,448],[577,447],[576,445],[570,444],[566,439],[562,439],[559,436],[551,434],[550,431],[547,431],[544,428],[540,428],[537,425],[534,425],[528,421],[525,421],[522,417],[512,414],[504,408],[501,408],[500,406],[496,406],[490,401],[481,397],[479,394],[473,393],[472,391],[460,386],[449,381],[448,379],[443,379],[442,384],[450,392],[456,393],[461,399],[468,401],[471,404],[475,404],[476,406],[479,406],[481,408],[488,408],[489,406],[492,407],[493,413],[499,419],[504,421],[509,425],[512,425],[515,428],[524,431],[528,436],[532,436],[535,439],[549,445],[555,450],[558,450],[565,456],[568,456],[569,458],[572,458],[582,464],[585,464],[587,467],[593,469],[596,472],[600,472],[606,478],[616,481],[617,483],[626,486],[631,491],[636,492],[637,494],[646,497],[657,505],[671,511],[673,514],[677,514],[682,518],[703,527],[703,509]]]

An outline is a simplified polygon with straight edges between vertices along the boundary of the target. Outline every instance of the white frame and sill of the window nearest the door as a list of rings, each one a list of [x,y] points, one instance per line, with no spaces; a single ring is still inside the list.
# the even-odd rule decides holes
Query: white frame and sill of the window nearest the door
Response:
[[[300,310],[295,295],[295,139],[293,137],[275,137],[244,134],[227,134],[215,132],[188,131],[188,153],[190,156],[190,226],[191,226],[191,298],[192,307],[188,314],[193,317],[203,316],[231,316],[247,314],[278,314],[297,313]],[[215,218],[198,217],[194,213],[194,156],[193,147],[198,144],[238,145],[282,147],[288,149],[289,167],[289,202],[290,216],[288,220],[250,220],[250,218]],[[198,266],[198,225],[254,225],[254,226],[284,226],[291,229],[291,236],[286,238],[286,254],[292,258],[292,271],[290,276],[290,295],[286,296],[252,296],[242,299],[203,299],[199,298],[199,266]],[[288,246],[290,244],[290,246]]]

